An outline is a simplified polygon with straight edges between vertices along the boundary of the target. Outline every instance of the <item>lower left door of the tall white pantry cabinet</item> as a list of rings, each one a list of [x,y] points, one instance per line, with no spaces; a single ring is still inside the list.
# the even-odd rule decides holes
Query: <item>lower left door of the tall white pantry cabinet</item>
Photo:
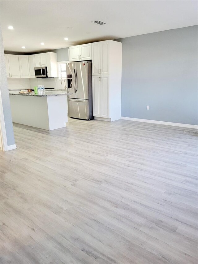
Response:
[[[101,81],[100,76],[92,77],[93,116],[101,117]]]

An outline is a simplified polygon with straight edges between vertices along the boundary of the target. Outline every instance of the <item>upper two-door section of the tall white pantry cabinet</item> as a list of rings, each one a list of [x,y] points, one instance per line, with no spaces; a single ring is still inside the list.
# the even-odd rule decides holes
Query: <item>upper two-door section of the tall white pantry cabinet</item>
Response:
[[[110,46],[112,56],[116,53],[113,51],[112,40],[105,40],[92,43],[92,75],[109,75],[110,74]],[[111,45],[112,44],[112,45]],[[111,57],[111,63],[114,58]]]

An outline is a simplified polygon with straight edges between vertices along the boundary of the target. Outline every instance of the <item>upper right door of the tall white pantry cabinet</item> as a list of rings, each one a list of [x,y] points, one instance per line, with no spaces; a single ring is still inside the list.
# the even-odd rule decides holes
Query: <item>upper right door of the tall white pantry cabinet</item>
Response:
[[[109,75],[109,41],[100,42],[100,69],[102,75]]]

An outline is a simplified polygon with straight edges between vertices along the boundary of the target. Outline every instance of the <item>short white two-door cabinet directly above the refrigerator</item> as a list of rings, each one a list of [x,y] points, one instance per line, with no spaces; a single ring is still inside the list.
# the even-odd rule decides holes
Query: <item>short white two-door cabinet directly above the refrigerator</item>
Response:
[[[91,60],[91,44],[83,44],[69,47],[70,61]]]

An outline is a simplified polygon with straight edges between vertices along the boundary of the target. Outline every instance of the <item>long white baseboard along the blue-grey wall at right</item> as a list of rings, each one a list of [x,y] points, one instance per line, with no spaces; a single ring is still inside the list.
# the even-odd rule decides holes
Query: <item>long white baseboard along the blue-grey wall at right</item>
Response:
[[[191,124],[172,123],[172,122],[165,122],[165,121],[157,121],[157,120],[149,120],[149,119],[140,119],[140,118],[133,118],[133,117],[125,117],[125,116],[121,116],[121,119],[130,120],[130,121],[137,121],[137,122],[144,122],[144,123],[153,123],[153,124],[159,124],[159,125],[167,125],[167,126],[175,126],[175,127],[195,128],[195,129],[198,129],[198,126],[197,125],[191,125]]]

